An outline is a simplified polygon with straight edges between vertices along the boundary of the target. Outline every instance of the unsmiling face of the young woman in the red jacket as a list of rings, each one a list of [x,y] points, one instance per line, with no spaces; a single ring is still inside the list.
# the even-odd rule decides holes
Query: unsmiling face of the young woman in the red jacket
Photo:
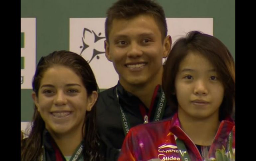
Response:
[[[179,117],[217,117],[224,86],[215,67],[198,52],[190,51],[181,61],[175,78]]]

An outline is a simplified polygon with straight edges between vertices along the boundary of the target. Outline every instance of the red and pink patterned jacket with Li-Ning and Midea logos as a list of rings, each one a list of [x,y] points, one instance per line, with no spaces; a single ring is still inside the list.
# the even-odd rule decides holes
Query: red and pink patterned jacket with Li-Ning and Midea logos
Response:
[[[181,129],[176,113],[172,119],[141,124],[131,128],[124,140],[118,161],[182,160],[181,155],[184,151],[177,147],[177,138],[186,145],[192,161],[204,160],[196,145]],[[230,141],[232,145],[229,145]],[[235,123],[231,118],[220,122],[209,148],[208,158],[215,158],[216,150],[222,149],[222,146],[226,149],[226,154],[235,155]]]

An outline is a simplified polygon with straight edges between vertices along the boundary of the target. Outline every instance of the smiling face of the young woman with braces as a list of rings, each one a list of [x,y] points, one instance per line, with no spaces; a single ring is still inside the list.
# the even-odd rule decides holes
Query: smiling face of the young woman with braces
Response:
[[[53,66],[42,77],[38,97],[32,97],[50,133],[82,130],[86,111],[90,111],[97,92],[88,96],[81,78],[70,68]]]

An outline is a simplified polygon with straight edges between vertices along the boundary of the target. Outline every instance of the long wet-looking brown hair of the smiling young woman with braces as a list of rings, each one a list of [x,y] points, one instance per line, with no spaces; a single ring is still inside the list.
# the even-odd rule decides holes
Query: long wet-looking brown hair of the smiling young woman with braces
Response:
[[[90,96],[93,91],[97,91],[96,79],[87,61],[76,53],[62,50],[55,51],[40,59],[32,82],[33,91],[36,93],[37,97],[44,72],[56,64],[69,67],[75,71],[75,73],[81,77],[88,96]],[[86,112],[84,126],[84,161],[101,160],[100,158],[102,156],[99,153],[99,136],[96,130],[95,107],[93,107],[91,111]],[[31,132],[27,140],[21,143],[21,161],[38,160],[39,156],[42,154],[42,134],[44,129],[45,122],[35,106]]]

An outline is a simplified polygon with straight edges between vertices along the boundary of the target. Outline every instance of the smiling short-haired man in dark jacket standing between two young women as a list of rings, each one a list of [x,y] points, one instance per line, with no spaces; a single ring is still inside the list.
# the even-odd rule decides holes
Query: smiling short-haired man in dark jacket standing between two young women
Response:
[[[163,8],[151,0],[119,0],[107,11],[106,57],[119,75],[100,93],[97,124],[116,160],[125,135],[138,124],[172,116],[162,90],[163,58],[171,50]]]

